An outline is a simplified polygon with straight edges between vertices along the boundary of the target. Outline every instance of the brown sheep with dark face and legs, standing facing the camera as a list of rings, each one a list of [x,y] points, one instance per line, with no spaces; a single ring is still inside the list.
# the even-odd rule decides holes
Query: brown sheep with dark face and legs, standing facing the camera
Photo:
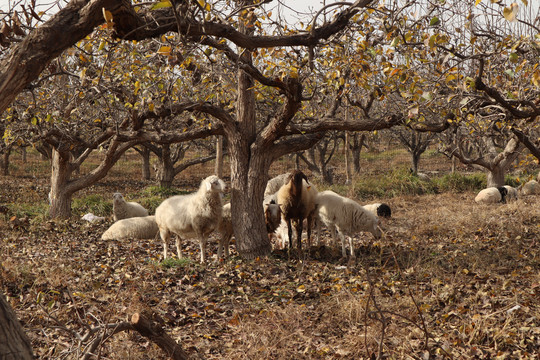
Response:
[[[304,183],[303,180],[306,182]],[[292,248],[292,221],[296,223],[297,247],[302,249],[302,228],[304,218],[307,219],[308,243],[311,241],[312,219],[315,213],[317,190],[309,185],[307,176],[295,170],[289,174],[288,180],[277,193],[277,203],[281,205],[281,216],[287,223],[289,249]]]

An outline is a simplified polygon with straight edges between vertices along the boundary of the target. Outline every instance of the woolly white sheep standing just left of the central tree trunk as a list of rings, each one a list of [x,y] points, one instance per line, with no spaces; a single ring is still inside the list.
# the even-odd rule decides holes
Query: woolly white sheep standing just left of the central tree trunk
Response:
[[[225,183],[210,175],[199,190],[188,195],[176,195],[163,201],[156,209],[156,222],[163,241],[163,258],[167,258],[167,242],[176,234],[176,251],[180,257],[182,237],[196,237],[201,248],[201,263],[206,262],[206,240],[218,228],[223,213],[222,195]]]

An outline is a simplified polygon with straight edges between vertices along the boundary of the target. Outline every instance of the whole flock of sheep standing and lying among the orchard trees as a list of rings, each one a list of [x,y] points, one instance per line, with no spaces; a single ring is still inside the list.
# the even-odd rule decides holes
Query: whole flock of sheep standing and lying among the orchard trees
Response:
[[[148,211],[136,202],[126,202],[122,194],[113,195],[115,223],[102,235],[103,240],[138,238],[153,239],[160,235],[163,257],[168,257],[168,242],[176,235],[176,251],[181,255],[182,240],[199,240],[201,262],[206,261],[206,244],[209,235],[221,234],[218,259],[229,256],[229,242],[234,233],[231,204],[223,205],[226,185],[215,175],[204,179],[197,192],[177,195],[164,200],[149,216]],[[523,195],[540,193],[540,184],[531,180],[520,191]],[[511,186],[490,187],[478,193],[475,201],[480,204],[505,203],[517,200],[518,189]],[[302,247],[302,232],[307,230],[308,246],[311,245],[313,227],[320,244],[321,225],[325,225],[334,242],[341,240],[342,256],[347,256],[346,239],[349,238],[350,256],[354,257],[352,237],[359,232],[370,232],[375,238],[382,236],[380,218],[391,217],[387,204],[360,205],[356,201],[327,190],[318,192],[301,171],[276,176],[268,181],[263,201],[264,217],[269,239],[282,247]],[[293,233],[293,228],[295,232]]]

